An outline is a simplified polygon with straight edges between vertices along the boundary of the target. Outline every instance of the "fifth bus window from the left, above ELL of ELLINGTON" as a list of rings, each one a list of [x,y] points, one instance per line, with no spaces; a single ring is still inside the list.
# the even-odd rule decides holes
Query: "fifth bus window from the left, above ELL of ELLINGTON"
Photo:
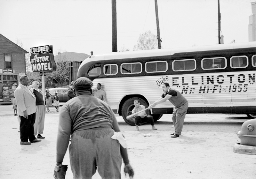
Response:
[[[196,69],[196,60],[174,60],[172,62],[173,71],[193,71]]]

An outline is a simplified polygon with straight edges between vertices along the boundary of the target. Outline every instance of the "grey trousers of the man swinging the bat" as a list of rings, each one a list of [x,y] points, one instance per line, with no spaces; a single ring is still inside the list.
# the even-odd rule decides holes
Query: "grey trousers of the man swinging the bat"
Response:
[[[188,110],[188,102],[181,105],[179,108],[174,107],[172,113],[172,123],[175,127],[175,134],[181,135],[184,119]]]

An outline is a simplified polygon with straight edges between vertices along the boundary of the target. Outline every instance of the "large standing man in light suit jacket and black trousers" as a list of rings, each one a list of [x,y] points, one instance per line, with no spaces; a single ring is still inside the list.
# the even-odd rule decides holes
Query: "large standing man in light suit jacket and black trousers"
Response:
[[[18,116],[20,117],[20,145],[30,145],[41,142],[34,136],[36,120],[36,97],[28,88],[28,76],[20,77],[20,85],[14,91],[17,102]],[[28,142],[28,139],[30,142]]]

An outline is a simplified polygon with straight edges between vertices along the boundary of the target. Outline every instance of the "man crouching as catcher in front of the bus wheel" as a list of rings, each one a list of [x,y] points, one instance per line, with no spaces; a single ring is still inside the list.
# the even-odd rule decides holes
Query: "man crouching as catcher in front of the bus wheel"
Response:
[[[145,106],[140,105],[139,100],[134,100],[134,106],[135,108],[132,109],[132,114],[135,114],[137,112],[140,112],[138,114],[135,114],[135,126],[136,126],[136,131],[139,131],[139,123],[145,123],[145,122],[150,122],[152,129],[157,130],[155,127],[154,119],[152,116],[147,116]],[[127,116],[128,117],[128,116]]]

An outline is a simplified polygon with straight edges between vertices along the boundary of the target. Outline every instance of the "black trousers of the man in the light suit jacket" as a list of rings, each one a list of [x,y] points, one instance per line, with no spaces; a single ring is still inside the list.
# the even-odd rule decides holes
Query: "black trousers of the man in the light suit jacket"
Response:
[[[36,113],[28,115],[28,119],[20,116],[20,141],[28,142],[35,140],[34,136],[34,123],[36,120]]]

